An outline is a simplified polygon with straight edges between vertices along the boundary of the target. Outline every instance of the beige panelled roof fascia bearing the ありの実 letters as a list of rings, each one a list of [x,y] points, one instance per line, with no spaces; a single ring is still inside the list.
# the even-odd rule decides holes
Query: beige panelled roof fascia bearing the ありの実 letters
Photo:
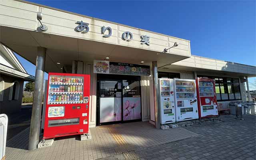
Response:
[[[25,30],[36,31],[40,23],[36,19],[36,13],[42,12],[42,24],[48,27],[44,33],[55,34],[60,36],[79,38],[84,40],[92,40],[97,42],[104,42],[108,44],[116,44],[120,46],[129,46],[132,48],[140,48],[145,50],[152,50],[163,52],[164,48],[173,46],[174,42],[179,42],[179,46],[168,50],[168,53],[178,54],[182,56],[190,56],[190,41],[172,36],[142,30],[100,20],[89,16],[75,14],[67,11],[62,11],[54,8],[28,4],[25,2],[18,2],[14,0],[0,0],[0,26],[8,26],[12,28],[20,28]],[[77,21],[89,23],[89,32],[82,34],[76,32],[74,28],[78,26]],[[15,23],[14,23],[15,22]],[[101,27],[111,27],[112,36],[105,38],[101,34]],[[129,31],[133,34],[132,41],[122,40],[122,33]],[[107,32],[108,33],[108,32]],[[150,36],[150,45],[141,44],[141,35]]]

